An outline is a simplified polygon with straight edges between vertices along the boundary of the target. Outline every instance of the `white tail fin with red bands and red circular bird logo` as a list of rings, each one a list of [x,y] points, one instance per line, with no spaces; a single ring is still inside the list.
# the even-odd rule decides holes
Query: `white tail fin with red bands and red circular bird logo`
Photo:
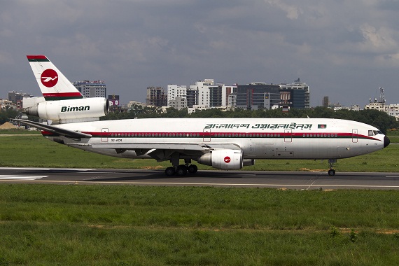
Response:
[[[45,55],[27,55],[27,59],[46,101],[83,98],[79,90]]]

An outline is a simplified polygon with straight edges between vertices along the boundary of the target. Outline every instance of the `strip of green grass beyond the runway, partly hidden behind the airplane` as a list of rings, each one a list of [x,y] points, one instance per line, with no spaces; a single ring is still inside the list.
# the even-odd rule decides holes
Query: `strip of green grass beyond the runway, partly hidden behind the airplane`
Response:
[[[41,136],[0,137],[1,167],[75,167],[113,169],[165,169],[170,162],[130,160],[85,152],[49,141]],[[337,172],[398,172],[399,145],[354,158],[338,160]],[[213,169],[198,165],[200,169]],[[326,160],[256,160],[244,170],[327,171]]]

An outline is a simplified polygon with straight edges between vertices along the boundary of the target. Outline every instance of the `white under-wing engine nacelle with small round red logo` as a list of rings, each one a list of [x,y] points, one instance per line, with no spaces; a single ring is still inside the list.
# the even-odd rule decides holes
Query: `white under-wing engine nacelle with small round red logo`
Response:
[[[210,165],[222,170],[237,170],[243,166],[241,150],[214,150],[205,153],[197,160],[202,165]]]

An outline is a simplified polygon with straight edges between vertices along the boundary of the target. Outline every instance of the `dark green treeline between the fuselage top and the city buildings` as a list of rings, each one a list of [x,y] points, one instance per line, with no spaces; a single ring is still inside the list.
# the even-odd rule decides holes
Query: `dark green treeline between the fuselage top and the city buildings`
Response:
[[[235,109],[234,111],[221,111],[219,109],[207,109],[188,113],[187,109],[167,109],[162,113],[158,107],[142,107],[134,105],[132,109],[124,113],[109,113],[104,120],[130,119],[130,118],[339,118],[354,120],[368,125],[373,125],[386,133],[390,129],[399,127],[399,123],[393,116],[377,110],[334,111],[325,107],[314,109],[290,109],[283,113],[281,109],[248,111]]]

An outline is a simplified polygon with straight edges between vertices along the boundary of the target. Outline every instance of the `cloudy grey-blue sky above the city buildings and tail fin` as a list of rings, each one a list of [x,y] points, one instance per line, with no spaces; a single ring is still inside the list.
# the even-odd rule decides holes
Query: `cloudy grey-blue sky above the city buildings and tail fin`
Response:
[[[0,0],[0,98],[41,96],[26,55],[120,102],[146,87],[293,83],[311,106],[399,104],[397,0]]]

